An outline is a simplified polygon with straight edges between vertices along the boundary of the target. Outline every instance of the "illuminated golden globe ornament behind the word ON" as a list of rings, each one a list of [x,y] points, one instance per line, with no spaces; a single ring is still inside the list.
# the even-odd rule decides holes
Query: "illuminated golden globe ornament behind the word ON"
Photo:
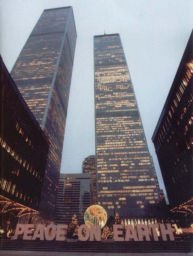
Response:
[[[84,222],[90,227],[91,225],[101,225],[103,228],[107,221],[107,213],[105,209],[100,205],[91,205],[84,213]]]

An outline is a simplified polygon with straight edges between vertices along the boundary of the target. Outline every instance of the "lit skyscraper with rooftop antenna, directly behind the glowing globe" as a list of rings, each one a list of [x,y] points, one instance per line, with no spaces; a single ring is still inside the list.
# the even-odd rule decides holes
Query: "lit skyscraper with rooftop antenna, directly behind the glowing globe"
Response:
[[[156,216],[158,191],[119,34],[94,36],[98,203],[108,216]]]

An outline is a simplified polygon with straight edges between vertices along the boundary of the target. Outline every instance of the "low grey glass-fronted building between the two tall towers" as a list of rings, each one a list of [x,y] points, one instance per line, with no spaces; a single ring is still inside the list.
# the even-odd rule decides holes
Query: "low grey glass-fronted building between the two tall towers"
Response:
[[[60,174],[56,202],[55,224],[67,224],[74,214],[79,225],[84,224],[84,213],[92,205],[92,174]]]

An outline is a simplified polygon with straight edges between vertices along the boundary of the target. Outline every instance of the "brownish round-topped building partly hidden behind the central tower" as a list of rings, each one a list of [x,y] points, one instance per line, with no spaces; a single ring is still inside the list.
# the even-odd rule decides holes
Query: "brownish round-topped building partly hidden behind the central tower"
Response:
[[[97,204],[96,198],[96,157],[91,155],[84,159],[82,173],[92,173],[92,203]]]

